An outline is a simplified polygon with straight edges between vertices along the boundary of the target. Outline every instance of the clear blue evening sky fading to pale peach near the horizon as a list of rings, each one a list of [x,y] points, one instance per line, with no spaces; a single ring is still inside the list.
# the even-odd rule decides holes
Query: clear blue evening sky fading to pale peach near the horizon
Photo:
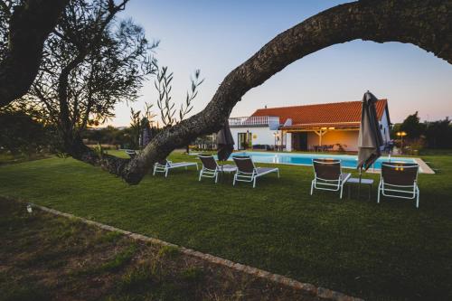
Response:
[[[347,1],[131,0],[120,16],[131,17],[148,39],[161,41],[155,57],[174,71],[173,98],[184,100],[190,76],[201,69],[204,83],[193,114],[212,99],[221,80],[266,42],[307,17]],[[154,79],[133,108],[154,102]],[[255,109],[362,99],[369,89],[389,99],[392,122],[419,110],[424,119],[452,117],[452,65],[417,46],[353,41],[334,45],[293,63],[250,90],[231,117]],[[119,105],[109,122],[127,126],[130,108]],[[155,113],[157,113],[155,111]]]

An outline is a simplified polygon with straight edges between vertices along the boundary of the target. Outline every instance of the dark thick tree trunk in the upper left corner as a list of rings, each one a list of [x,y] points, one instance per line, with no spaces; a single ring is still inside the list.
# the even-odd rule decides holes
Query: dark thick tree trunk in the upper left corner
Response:
[[[25,0],[14,7],[8,50],[0,62],[0,108],[30,89],[42,60],[42,49],[69,0]]]

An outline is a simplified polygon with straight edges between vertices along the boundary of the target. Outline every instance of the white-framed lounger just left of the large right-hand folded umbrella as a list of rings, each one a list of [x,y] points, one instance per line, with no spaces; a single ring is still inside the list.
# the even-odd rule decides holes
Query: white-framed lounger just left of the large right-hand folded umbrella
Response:
[[[340,198],[342,199],[344,184],[351,174],[342,172],[341,160],[313,159],[312,162],[314,166],[314,180],[311,183],[311,195],[314,193],[314,189],[340,191]]]

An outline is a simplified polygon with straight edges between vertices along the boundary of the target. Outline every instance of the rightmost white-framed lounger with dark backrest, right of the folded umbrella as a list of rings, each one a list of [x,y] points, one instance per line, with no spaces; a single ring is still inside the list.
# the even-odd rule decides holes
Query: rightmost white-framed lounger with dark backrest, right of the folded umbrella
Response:
[[[418,174],[419,165],[415,163],[383,162],[377,203],[380,203],[380,197],[383,195],[400,199],[416,199],[416,208],[419,208]]]

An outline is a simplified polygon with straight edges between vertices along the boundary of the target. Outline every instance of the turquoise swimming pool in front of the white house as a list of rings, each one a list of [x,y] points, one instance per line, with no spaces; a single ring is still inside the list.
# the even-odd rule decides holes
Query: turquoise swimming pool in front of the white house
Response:
[[[329,158],[329,159],[339,159],[341,160],[341,165],[344,168],[356,168],[358,163],[357,155],[329,155],[329,154],[293,154],[293,153],[270,153],[270,152],[238,152],[232,153],[235,155],[250,155],[254,162],[259,163],[275,163],[275,164],[285,164],[285,165],[312,165],[312,159],[315,158]],[[373,169],[381,169],[381,162],[389,161],[389,157],[381,156],[375,164],[372,166]],[[417,163],[415,158],[401,158],[392,157],[392,162],[406,162],[406,163]]]

